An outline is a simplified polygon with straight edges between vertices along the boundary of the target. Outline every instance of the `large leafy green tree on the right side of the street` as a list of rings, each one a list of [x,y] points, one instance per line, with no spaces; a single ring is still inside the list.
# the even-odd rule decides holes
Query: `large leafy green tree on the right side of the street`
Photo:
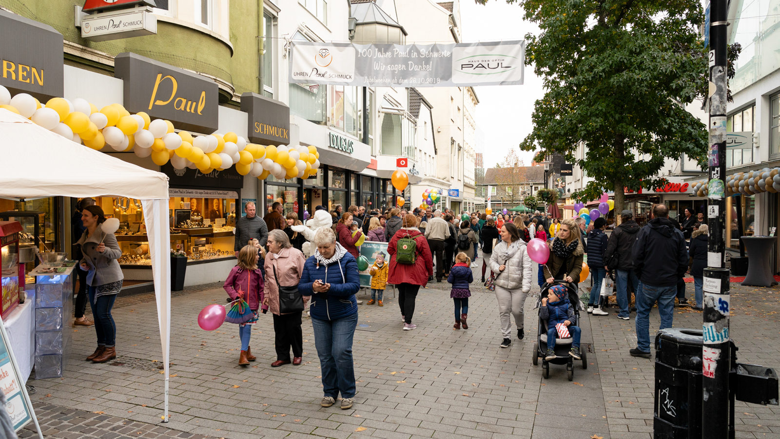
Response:
[[[487,0],[476,0],[485,3]],[[515,0],[507,0],[514,3]],[[657,187],[665,159],[704,160],[707,130],[685,105],[707,89],[699,0],[520,0],[526,64],[543,78],[520,148],[562,154],[594,180],[575,198]],[[584,159],[576,159],[584,145]]]

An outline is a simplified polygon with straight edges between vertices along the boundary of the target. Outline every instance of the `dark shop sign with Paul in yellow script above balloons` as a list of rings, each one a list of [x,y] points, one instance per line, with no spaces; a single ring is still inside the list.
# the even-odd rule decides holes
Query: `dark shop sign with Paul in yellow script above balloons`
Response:
[[[129,52],[116,55],[114,76],[124,80],[129,111],[170,120],[183,130],[217,130],[218,87],[213,80]]]

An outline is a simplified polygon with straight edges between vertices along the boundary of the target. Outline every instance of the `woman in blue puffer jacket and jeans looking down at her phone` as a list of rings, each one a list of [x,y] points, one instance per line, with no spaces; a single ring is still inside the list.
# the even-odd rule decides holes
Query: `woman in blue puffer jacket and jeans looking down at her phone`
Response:
[[[309,310],[324,391],[320,405],[335,404],[340,391],[341,408],[349,409],[356,392],[352,341],[357,327],[355,293],[360,290],[357,261],[328,227],[317,230],[312,242],[317,250],[303,265],[298,291],[311,296]]]

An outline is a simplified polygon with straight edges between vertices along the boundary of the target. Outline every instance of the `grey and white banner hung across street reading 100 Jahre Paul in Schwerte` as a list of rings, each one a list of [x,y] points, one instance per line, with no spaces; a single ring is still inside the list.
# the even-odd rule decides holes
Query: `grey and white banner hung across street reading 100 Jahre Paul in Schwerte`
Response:
[[[289,80],[300,84],[451,87],[523,84],[525,41],[353,45],[292,41]]]

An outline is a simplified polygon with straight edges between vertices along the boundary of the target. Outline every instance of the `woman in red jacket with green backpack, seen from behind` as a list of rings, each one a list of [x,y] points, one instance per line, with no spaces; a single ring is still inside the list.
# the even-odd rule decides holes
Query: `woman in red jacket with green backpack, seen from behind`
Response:
[[[388,243],[390,254],[390,274],[388,284],[394,284],[398,288],[398,305],[401,308],[403,330],[413,330],[417,325],[412,324],[414,315],[414,300],[417,291],[425,287],[428,278],[434,274],[434,260],[431,257],[431,248],[428,241],[417,229],[417,216],[406,215],[403,217],[403,227],[395,232]],[[399,239],[410,237],[415,242],[415,262],[413,264],[399,263],[395,259]]]

